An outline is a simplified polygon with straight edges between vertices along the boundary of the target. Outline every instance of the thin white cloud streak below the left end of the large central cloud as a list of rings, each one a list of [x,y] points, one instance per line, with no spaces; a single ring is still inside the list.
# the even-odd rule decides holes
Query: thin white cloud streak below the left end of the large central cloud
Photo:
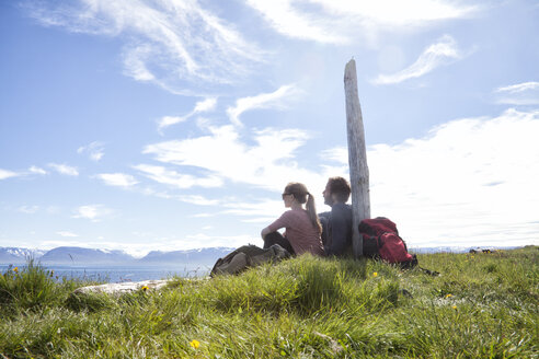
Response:
[[[163,166],[138,164],[133,166],[135,170],[142,172],[145,176],[158,183],[174,186],[176,188],[199,187],[220,187],[222,181],[217,176],[195,177],[190,174],[181,174],[174,170],[168,170]]]

